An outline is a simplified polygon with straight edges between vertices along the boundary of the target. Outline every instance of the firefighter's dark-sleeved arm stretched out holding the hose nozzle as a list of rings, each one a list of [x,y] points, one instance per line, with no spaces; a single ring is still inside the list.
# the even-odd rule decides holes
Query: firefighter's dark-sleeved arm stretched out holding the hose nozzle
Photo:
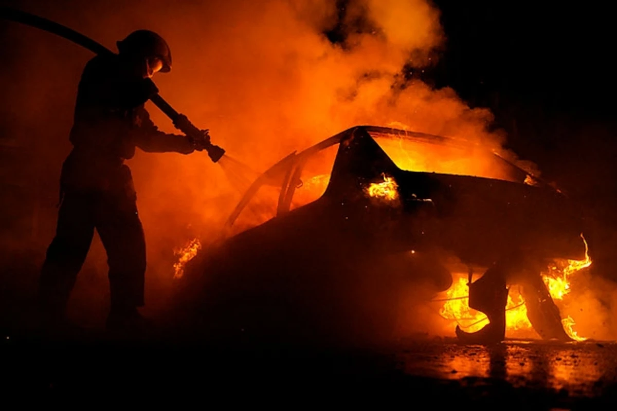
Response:
[[[133,139],[135,145],[145,152],[176,152],[189,154],[195,150],[189,137],[179,136],[178,134],[167,134],[166,132],[160,131],[143,107],[138,109],[137,121],[138,124],[136,124],[133,131]]]

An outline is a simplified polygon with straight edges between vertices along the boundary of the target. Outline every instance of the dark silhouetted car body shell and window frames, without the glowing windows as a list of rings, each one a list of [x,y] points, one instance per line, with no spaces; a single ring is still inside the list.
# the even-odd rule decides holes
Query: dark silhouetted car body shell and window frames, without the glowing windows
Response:
[[[262,184],[281,184],[278,215],[189,263],[181,301],[191,328],[267,341],[387,340],[399,320],[403,284],[417,282],[420,299],[452,283],[439,261],[444,253],[479,267],[513,250],[584,258],[582,219],[558,190],[405,171],[370,132],[431,137],[360,126],[264,173],[247,197]],[[340,145],[325,193],[289,211],[306,159],[332,144]],[[526,173],[518,171],[522,181]],[[367,194],[384,176],[396,182],[396,200]]]

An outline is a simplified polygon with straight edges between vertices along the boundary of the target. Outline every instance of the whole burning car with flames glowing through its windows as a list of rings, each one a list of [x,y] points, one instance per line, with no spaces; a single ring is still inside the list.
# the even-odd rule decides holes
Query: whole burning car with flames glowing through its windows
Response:
[[[466,158],[470,171],[429,171],[433,165],[410,164],[413,150],[397,150],[397,165],[387,150],[402,144],[446,153],[445,171]],[[332,166],[323,161],[328,150]],[[268,187],[278,192],[274,215],[242,226]],[[204,250],[193,243],[183,257],[182,265],[196,254],[182,267],[179,308],[191,329],[210,336],[387,340],[404,304],[400,291],[430,301],[452,289],[447,261],[455,258],[470,285],[468,296],[452,299],[468,300],[489,322],[476,333],[457,327],[462,341],[503,340],[508,285],[522,287],[526,316],[542,338],[569,341],[540,272],[556,259],[590,264],[582,230],[566,195],[496,153],[445,137],[357,126],[292,153],[255,179],[227,221],[226,238]]]

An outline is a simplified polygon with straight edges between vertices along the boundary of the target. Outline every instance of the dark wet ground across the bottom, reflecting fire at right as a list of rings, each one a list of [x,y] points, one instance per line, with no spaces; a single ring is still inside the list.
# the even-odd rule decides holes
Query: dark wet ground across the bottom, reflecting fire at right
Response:
[[[370,350],[2,337],[0,392],[212,404],[616,409],[617,344],[415,340]],[[425,404],[420,406],[421,404]]]

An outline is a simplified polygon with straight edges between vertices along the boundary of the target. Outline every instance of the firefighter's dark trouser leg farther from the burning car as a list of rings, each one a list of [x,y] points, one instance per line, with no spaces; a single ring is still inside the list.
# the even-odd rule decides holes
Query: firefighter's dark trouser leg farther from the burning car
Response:
[[[41,313],[49,320],[64,319],[70,292],[88,254],[93,234],[88,197],[67,193],[58,212],[56,237],[49,245],[39,279]]]

